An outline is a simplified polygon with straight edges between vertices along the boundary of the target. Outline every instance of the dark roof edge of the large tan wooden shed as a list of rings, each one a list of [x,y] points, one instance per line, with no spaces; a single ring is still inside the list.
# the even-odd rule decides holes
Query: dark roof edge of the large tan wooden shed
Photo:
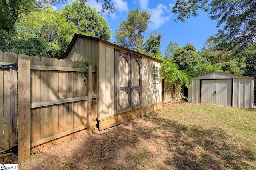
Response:
[[[71,40],[70,44],[68,45],[68,48],[67,48],[67,50],[66,50],[66,52],[65,52],[65,54],[64,54],[64,58],[68,56],[68,54],[69,54],[69,52],[71,51],[72,47],[73,47],[74,44],[76,43],[77,38],[79,38],[79,37],[88,38],[88,39],[92,39],[92,40],[104,42],[104,43],[106,43],[106,44],[111,44],[111,45],[116,46],[117,48],[126,50],[126,51],[128,51],[128,52],[130,52],[130,53],[133,53],[133,54],[136,54],[136,55],[138,55],[138,56],[149,57],[149,58],[152,58],[152,59],[154,59],[154,60],[156,60],[156,61],[158,61],[158,62],[162,62],[161,60],[158,60],[158,59],[156,59],[156,58],[153,58],[153,57],[150,57],[150,56],[148,56],[148,55],[145,55],[145,54],[136,52],[136,51],[134,51],[134,50],[130,50],[130,49],[128,49],[128,48],[124,48],[124,47],[122,47],[122,46],[113,44],[113,43],[108,42],[108,41],[105,41],[105,40],[101,40],[100,38],[96,38],[96,37],[92,37],[92,36],[86,36],[86,35],[82,35],[82,34],[74,34],[74,37],[72,38],[72,40]]]

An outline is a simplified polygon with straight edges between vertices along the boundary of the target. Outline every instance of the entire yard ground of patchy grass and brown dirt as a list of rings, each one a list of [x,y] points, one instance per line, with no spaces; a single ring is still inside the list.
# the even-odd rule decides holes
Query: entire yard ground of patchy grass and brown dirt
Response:
[[[61,142],[21,170],[256,170],[256,110],[171,104]]]

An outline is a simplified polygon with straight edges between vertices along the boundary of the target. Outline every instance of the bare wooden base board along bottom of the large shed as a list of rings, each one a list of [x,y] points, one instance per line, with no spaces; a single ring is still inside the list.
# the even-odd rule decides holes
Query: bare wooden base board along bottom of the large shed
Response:
[[[154,112],[155,110],[158,110],[162,108],[162,103],[154,104],[148,107],[141,108],[139,110],[132,110],[130,112],[127,112],[126,114],[111,116],[111,118],[104,118],[102,120],[99,120],[99,130],[104,130],[107,128],[110,128],[112,126],[116,126],[118,124],[122,124],[124,122],[127,122],[129,120],[138,118],[140,116],[144,116],[150,112]]]

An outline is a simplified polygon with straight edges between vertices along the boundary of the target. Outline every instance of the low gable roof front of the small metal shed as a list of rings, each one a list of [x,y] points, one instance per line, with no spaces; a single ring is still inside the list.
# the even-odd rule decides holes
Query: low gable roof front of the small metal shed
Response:
[[[192,78],[193,80],[200,80],[200,79],[230,79],[230,78],[249,78],[254,79],[253,77],[248,76],[240,76],[236,74],[230,74],[230,73],[223,73],[223,72],[211,72],[208,74],[204,74],[202,76],[197,76]]]

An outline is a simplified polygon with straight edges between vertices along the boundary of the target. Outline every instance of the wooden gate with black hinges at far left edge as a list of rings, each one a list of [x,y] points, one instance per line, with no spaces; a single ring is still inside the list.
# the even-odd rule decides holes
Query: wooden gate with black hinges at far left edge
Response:
[[[17,55],[0,51],[0,152],[17,144]],[[3,162],[11,153],[0,154]]]

